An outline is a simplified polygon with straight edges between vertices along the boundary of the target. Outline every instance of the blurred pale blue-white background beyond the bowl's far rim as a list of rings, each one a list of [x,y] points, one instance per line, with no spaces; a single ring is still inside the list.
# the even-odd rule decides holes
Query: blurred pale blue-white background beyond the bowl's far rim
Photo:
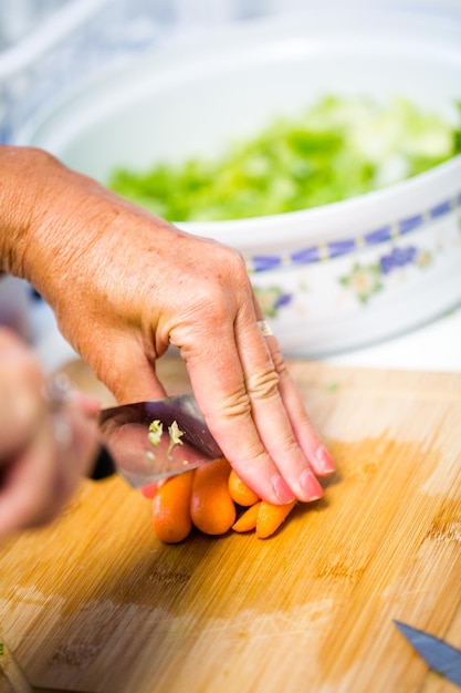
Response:
[[[322,10],[346,6],[461,17],[461,0],[323,0]],[[0,143],[12,142],[48,99],[133,54],[316,7],[315,0],[2,0]]]

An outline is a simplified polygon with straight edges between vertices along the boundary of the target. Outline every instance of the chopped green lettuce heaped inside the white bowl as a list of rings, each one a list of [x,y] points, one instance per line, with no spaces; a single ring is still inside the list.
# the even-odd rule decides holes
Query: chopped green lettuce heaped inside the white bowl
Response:
[[[274,215],[344,200],[410,178],[461,152],[460,124],[408,100],[325,96],[216,158],[118,168],[109,187],[171,221]]]

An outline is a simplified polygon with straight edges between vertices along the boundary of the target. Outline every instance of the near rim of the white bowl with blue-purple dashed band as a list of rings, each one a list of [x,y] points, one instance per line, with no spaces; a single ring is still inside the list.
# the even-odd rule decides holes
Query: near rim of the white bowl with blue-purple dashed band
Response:
[[[261,273],[324,262],[408,237],[460,207],[461,154],[412,178],[329,205],[266,217],[174,224],[221,242],[234,238],[232,245],[249,271]]]

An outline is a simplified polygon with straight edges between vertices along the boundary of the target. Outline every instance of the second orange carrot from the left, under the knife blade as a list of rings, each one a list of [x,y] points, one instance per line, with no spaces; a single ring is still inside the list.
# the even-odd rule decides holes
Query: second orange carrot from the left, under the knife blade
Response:
[[[195,526],[207,535],[223,535],[235,521],[228,484],[230,469],[223,457],[196,469],[190,514]]]

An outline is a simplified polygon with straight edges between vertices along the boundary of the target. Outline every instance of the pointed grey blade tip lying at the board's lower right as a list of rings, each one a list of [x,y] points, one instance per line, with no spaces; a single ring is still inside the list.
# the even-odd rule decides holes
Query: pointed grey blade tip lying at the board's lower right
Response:
[[[401,621],[394,621],[394,623],[433,671],[461,686],[460,650],[440,638],[436,638],[436,635],[407,625]]]

